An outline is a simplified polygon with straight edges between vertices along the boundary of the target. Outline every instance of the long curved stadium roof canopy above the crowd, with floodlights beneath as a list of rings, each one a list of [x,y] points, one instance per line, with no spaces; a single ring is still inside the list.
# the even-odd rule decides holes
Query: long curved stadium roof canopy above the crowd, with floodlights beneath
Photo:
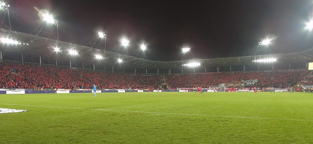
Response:
[[[258,56],[243,56],[243,57],[228,57],[228,58],[215,58],[215,59],[200,59],[200,60],[184,60],[184,61],[171,61],[159,62],[150,61],[134,56],[126,56],[115,52],[105,51],[99,48],[91,48],[89,46],[78,45],[65,41],[57,41],[41,36],[26,34],[22,32],[11,31],[7,29],[0,30],[1,38],[12,38],[28,45],[4,45],[0,47],[0,51],[11,51],[19,54],[31,54],[37,56],[45,56],[53,59],[63,60],[78,60],[88,63],[103,62],[108,66],[122,65],[124,67],[135,68],[181,68],[182,64],[189,62],[199,62],[201,67],[215,67],[215,66],[236,66],[236,65],[255,65],[253,60],[275,58],[278,63],[293,63],[293,62],[313,62],[313,48],[306,51],[288,53],[288,54],[272,54],[272,55],[258,55]],[[66,50],[56,54],[54,47]],[[69,56],[67,51],[75,49],[78,56]],[[96,54],[101,54],[107,59],[97,60]],[[117,60],[121,59],[123,62],[118,63]]]

